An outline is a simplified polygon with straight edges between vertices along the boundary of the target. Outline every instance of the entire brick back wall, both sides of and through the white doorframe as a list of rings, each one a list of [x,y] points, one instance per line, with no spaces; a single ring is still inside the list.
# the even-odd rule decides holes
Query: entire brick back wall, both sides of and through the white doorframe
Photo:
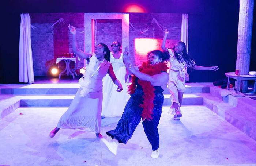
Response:
[[[129,28],[129,51],[132,62],[140,65],[146,61],[146,52],[154,49],[161,50],[161,42],[164,32],[153,23],[149,30],[143,34],[140,32],[148,27],[153,18],[169,29],[166,41],[167,47],[173,47],[180,40],[181,14],[169,13],[130,13],[129,21],[136,28],[133,31]],[[49,67],[55,62],[57,57],[63,57],[64,53],[72,53],[72,35],[69,33],[68,24],[77,27],[77,42],[80,50],[84,50],[84,13],[41,13],[30,14],[31,24],[38,27],[37,33],[31,30],[33,66],[35,76],[45,76]],[[60,23],[50,27],[58,19],[63,18],[65,23]],[[96,44],[105,43],[109,46],[113,41],[122,42],[122,27],[120,19],[97,19]],[[44,31],[42,30],[44,29]],[[138,43],[135,49],[135,39]],[[150,41],[148,41],[150,40]],[[152,41],[151,41],[152,40]],[[146,43],[144,42],[146,41]],[[72,63],[74,66],[74,63]],[[84,61],[76,61],[76,67],[84,66]],[[64,63],[60,63],[61,69]]]

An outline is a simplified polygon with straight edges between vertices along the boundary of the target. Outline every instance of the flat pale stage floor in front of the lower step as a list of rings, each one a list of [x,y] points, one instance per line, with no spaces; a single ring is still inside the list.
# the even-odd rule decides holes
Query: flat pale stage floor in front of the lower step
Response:
[[[102,149],[92,132],[56,127],[67,107],[25,107],[0,120],[0,165],[98,166],[255,166],[256,141],[205,106],[182,107],[181,121],[163,108],[159,124],[160,155],[150,158],[151,145],[142,123],[117,155]],[[116,127],[120,117],[102,119],[101,133]]]

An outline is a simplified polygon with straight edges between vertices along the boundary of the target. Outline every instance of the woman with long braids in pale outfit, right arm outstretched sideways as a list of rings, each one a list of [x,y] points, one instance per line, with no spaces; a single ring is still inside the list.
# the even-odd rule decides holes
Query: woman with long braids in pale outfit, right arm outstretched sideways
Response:
[[[165,30],[165,36],[163,37],[162,49],[168,51],[170,54],[170,69],[169,69],[169,82],[168,89],[171,93],[171,107],[169,113],[174,115],[174,120],[180,120],[181,114],[181,104],[183,99],[183,94],[185,91],[185,80],[189,81],[189,74],[187,72],[188,68],[193,68],[195,70],[213,70],[219,69],[218,66],[204,67],[197,66],[195,61],[188,55],[186,45],[184,42],[178,42],[173,49],[165,47],[166,38],[169,31]]]

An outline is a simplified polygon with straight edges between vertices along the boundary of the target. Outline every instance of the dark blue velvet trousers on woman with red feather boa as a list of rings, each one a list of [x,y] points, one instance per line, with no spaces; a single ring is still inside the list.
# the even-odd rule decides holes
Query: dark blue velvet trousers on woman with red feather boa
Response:
[[[123,115],[118,121],[116,129],[108,131],[107,135],[117,139],[119,143],[127,143],[140,123],[140,115],[143,108],[139,105],[143,103],[143,95],[144,93],[141,89],[135,89],[135,93],[131,94],[131,98],[128,100],[124,108]],[[159,134],[157,126],[162,114],[163,100],[164,96],[162,93],[155,94],[152,115],[153,119],[150,121],[144,120],[142,122],[144,132],[152,146],[152,150],[157,150],[159,148]]]

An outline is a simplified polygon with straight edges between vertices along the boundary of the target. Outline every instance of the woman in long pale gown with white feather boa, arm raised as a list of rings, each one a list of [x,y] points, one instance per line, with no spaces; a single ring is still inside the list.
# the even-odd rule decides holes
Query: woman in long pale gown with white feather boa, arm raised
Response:
[[[113,67],[109,62],[108,46],[101,43],[95,49],[95,56],[79,50],[76,43],[76,30],[68,26],[73,34],[73,51],[78,57],[90,61],[86,67],[86,73],[80,88],[76,92],[68,110],[61,116],[57,127],[50,132],[54,137],[60,128],[87,129],[95,132],[102,138],[101,109],[102,109],[102,79],[108,73],[112,82],[117,85],[117,92],[123,88],[120,81],[114,75]]]

